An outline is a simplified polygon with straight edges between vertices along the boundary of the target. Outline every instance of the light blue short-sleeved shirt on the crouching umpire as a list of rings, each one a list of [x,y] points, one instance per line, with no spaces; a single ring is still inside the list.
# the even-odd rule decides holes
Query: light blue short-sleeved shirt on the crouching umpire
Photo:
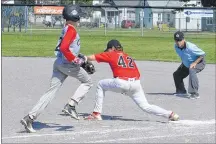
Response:
[[[201,55],[205,55],[205,52],[198,48],[195,44],[190,42],[185,42],[186,47],[181,49],[175,44],[176,53],[182,60],[182,63],[186,67],[190,67],[190,64],[197,60],[197,58]]]

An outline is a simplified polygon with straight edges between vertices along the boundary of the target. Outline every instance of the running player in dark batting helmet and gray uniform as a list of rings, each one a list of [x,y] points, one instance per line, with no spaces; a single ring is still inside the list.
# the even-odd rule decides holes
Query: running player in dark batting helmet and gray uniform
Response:
[[[76,31],[76,26],[80,20],[81,8],[78,5],[68,5],[63,9],[63,18],[66,20],[55,49],[56,60],[53,64],[53,73],[48,91],[40,98],[33,109],[21,120],[27,132],[36,132],[33,121],[41,114],[47,105],[54,98],[57,90],[68,76],[72,76],[81,82],[74,95],[65,105],[63,112],[72,118],[79,119],[75,106],[78,104],[93,86],[91,77],[80,67],[86,60],[79,58],[80,37]]]

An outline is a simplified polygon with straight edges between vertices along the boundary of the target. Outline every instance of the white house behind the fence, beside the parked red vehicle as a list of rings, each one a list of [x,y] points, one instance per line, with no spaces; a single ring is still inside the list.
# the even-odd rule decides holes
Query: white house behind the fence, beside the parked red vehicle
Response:
[[[130,5],[130,6],[140,6],[143,4],[143,0],[113,0],[108,3],[104,0],[94,0],[93,5]],[[101,10],[95,11],[93,17],[101,18],[101,22],[105,23],[105,20],[109,27],[116,28],[121,27],[123,21],[133,22],[133,26],[140,25],[140,11],[142,9],[138,8],[118,8],[115,7],[104,7]]]

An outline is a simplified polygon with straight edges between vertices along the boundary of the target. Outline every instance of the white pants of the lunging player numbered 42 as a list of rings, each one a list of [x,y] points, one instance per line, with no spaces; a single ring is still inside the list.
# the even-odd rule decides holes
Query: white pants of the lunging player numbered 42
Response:
[[[140,80],[122,80],[118,78],[103,79],[98,82],[95,98],[94,112],[102,112],[103,98],[106,91],[124,93],[130,96],[134,102],[145,112],[168,118],[172,111],[165,110],[156,105],[151,105],[146,100]]]

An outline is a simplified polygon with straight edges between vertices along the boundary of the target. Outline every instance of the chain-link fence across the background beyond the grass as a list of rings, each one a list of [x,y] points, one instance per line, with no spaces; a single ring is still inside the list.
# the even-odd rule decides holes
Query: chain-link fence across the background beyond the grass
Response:
[[[64,26],[61,6],[4,6],[2,5],[2,32],[32,32],[37,30],[58,30]],[[149,32],[216,31],[216,11],[205,15],[193,15],[189,10],[150,8],[92,8],[83,7],[85,15],[80,20],[79,30],[100,32],[128,32],[144,36]]]

